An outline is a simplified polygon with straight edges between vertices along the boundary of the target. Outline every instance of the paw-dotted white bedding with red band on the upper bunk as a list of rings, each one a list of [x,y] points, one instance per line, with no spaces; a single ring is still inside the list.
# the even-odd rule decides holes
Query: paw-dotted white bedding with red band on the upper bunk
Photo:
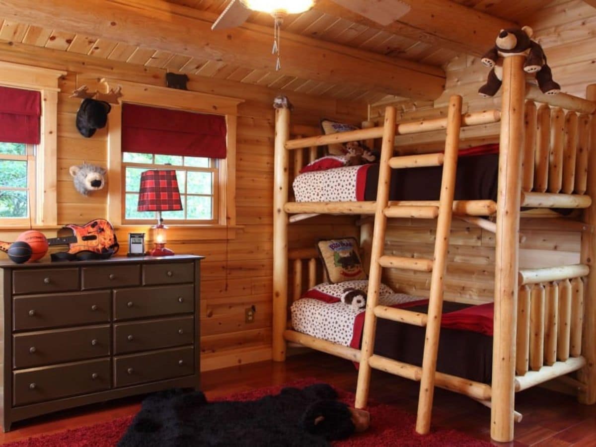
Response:
[[[367,164],[305,172],[292,184],[297,202],[353,202],[364,200]],[[362,196],[362,197],[360,197]]]

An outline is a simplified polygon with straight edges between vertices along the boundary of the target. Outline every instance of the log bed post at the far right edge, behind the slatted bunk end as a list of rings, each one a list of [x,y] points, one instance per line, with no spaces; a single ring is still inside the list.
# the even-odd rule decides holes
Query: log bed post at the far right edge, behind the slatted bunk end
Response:
[[[588,86],[586,99],[596,101],[596,84]],[[588,183],[586,193],[592,200],[596,198],[596,116],[592,114],[588,146]],[[596,204],[592,203],[583,213],[586,224],[596,224]],[[579,392],[579,402],[591,405],[596,403],[596,237],[593,233],[582,232],[582,263],[589,266],[590,272],[584,287],[584,316],[582,355],[585,366],[579,370],[579,381],[586,384],[586,389]]]

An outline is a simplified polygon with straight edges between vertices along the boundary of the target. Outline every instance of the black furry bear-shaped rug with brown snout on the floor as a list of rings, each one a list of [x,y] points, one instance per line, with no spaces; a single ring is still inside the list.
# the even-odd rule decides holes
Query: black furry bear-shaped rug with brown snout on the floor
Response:
[[[368,412],[338,402],[327,384],[246,402],[207,402],[201,392],[168,390],[143,401],[118,446],[328,446],[369,422]]]

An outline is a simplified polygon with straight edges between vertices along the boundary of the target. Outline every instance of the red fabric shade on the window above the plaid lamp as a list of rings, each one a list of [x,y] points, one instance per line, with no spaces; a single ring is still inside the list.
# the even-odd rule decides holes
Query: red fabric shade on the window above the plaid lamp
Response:
[[[123,104],[122,150],[144,154],[226,157],[223,116]]]

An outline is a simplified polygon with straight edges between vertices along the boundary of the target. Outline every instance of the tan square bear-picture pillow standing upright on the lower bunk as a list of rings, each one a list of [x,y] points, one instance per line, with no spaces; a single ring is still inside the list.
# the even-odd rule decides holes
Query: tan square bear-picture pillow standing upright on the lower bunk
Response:
[[[353,237],[319,241],[316,244],[330,283],[365,280],[367,274],[358,254],[358,243]]]

